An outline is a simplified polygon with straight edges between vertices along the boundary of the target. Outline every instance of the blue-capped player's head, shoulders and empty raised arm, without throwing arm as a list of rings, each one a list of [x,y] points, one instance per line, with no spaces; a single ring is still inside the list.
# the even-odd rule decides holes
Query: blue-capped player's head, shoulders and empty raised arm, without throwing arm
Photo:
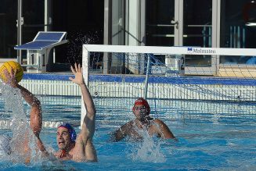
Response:
[[[81,126],[81,133],[78,135],[69,123],[62,124],[58,127],[56,141],[59,151],[54,155],[62,160],[96,162],[96,149],[92,143],[92,137],[95,131],[95,105],[85,85],[80,64],[75,64],[74,67],[71,66],[71,71],[74,73],[75,77],[70,77],[70,80],[81,87],[81,94],[87,113]]]

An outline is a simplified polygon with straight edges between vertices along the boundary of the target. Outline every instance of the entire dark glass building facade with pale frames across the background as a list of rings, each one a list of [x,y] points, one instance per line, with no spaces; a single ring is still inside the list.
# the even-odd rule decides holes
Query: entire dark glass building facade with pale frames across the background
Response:
[[[1,59],[17,56],[13,47],[19,42],[17,33],[20,32],[16,27],[18,2],[22,2],[22,43],[32,41],[38,31],[45,30],[48,22],[51,26],[47,30],[67,31],[70,44],[56,50],[60,56],[67,55],[59,59],[60,62],[81,60],[81,48],[76,49],[84,43],[256,47],[256,4],[251,0],[218,0],[218,3],[214,0],[0,0]],[[216,10],[216,4],[220,11]],[[106,13],[107,21],[104,18]],[[218,15],[220,20],[213,22]],[[45,20],[48,21],[45,23]],[[106,28],[107,32],[104,32]],[[164,57],[160,60],[164,61]],[[221,56],[219,62],[223,65],[252,65],[256,63],[254,61],[254,56]],[[211,55],[186,55],[186,66],[211,67],[212,62]]]

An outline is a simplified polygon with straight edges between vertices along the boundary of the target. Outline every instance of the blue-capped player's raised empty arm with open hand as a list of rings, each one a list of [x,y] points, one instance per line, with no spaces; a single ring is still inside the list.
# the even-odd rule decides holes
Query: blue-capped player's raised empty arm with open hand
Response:
[[[70,77],[70,80],[81,87],[81,95],[87,112],[84,118],[84,122],[81,126],[81,133],[78,136],[78,141],[81,141],[85,147],[86,159],[90,161],[96,161],[96,150],[92,144],[92,137],[95,132],[96,108],[94,102],[92,101],[92,96],[88,91],[88,87],[85,85],[80,64],[77,65],[75,63],[74,67],[71,66],[71,71],[74,73],[75,77]]]

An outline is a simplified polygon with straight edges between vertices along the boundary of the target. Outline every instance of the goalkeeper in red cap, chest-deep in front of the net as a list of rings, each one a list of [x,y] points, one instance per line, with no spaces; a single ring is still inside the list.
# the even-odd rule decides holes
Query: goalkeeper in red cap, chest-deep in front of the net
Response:
[[[114,141],[121,141],[127,136],[135,141],[141,140],[143,138],[141,134],[143,131],[139,130],[146,130],[150,136],[175,139],[175,136],[163,121],[150,117],[150,105],[144,98],[138,98],[135,101],[132,112],[135,115],[135,119],[125,123],[114,132]]]

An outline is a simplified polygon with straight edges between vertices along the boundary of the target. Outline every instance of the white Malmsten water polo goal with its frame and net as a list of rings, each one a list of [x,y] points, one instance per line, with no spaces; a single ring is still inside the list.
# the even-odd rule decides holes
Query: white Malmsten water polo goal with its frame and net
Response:
[[[83,74],[103,116],[132,113],[142,97],[157,117],[246,119],[256,116],[254,55],[245,48],[83,45]]]

